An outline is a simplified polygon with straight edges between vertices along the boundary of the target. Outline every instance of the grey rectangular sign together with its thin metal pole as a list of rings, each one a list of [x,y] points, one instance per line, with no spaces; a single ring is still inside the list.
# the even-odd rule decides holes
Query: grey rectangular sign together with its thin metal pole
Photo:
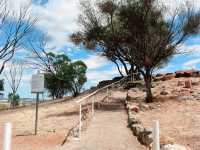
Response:
[[[37,135],[38,127],[38,106],[39,106],[39,94],[44,92],[44,74],[38,73],[32,75],[31,79],[31,93],[36,94],[36,107],[35,107],[35,135]]]

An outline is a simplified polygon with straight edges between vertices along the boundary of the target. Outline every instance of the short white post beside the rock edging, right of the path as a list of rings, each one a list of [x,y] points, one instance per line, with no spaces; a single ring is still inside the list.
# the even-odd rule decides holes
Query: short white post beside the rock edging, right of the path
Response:
[[[160,150],[160,133],[159,133],[159,121],[154,121],[153,128],[153,150]]]

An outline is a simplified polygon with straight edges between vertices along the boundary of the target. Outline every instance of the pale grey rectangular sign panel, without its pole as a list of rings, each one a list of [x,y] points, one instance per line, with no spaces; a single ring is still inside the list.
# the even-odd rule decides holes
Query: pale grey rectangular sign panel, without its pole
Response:
[[[31,80],[31,93],[44,92],[44,74],[32,75]]]

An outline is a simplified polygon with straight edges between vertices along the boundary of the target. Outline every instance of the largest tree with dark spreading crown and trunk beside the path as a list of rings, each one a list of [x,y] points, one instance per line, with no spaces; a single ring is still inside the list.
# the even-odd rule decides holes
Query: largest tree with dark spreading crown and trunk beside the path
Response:
[[[180,54],[178,47],[199,33],[200,11],[192,5],[177,8],[169,17],[156,0],[84,1],[82,6],[82,28],[71,35],[72,41],[122,63],[127,74],[127,66],[138,70],[145,81],[146,102],[153,101],[153,71]]]

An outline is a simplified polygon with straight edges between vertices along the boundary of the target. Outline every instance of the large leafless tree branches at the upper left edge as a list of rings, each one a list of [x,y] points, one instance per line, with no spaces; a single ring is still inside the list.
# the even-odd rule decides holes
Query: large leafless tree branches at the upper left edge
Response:
[[[3,41],[0,48],[0,74],[16,50],[23,45],[35,22],[36,19],[30,16],[29,5],[22,6],[20,12],[14,13],[8,10],[6,0],[0,1],[0,30]]]

